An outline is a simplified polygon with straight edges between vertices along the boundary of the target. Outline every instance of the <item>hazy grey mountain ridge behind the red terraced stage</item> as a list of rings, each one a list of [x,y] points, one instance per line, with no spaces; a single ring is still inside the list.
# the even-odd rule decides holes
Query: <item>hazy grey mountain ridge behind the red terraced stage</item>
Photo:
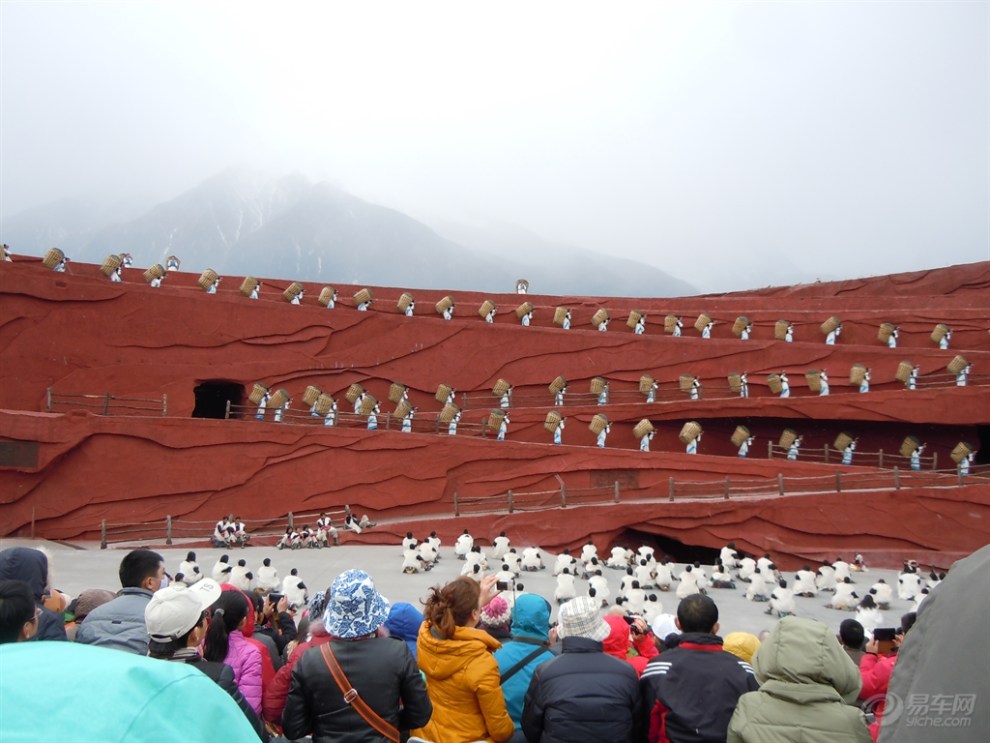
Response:
[[[307,281],[504,292],[517,278],[540,294],[684,296],[694,287],[645,263],[615,259],[532,235],[513,244],[468,235],[447,239],[402,212],[372,204],[326,182],[295,174],[271,178],[232,169],[112,223],[90,205],[35,207],[0,224],[13,251],[57,245],[100,262],[128,252],[136,265],[179,256],[183,268]],[[503,238],[504,239],[504,238]]]

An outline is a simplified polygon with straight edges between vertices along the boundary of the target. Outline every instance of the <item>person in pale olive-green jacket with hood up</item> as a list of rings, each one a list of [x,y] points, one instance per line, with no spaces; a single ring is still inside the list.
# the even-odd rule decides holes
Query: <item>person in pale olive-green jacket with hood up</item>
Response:
[[[727,743],[871,743],[853,706],[859,669],[827,626],[785,617],[753,657],[759,691],[739,697]]]

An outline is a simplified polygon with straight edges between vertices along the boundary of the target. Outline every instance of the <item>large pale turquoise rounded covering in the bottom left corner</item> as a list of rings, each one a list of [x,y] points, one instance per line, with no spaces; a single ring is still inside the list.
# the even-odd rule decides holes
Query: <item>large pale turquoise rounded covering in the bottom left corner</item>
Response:
[[[0,699],[4,743],[258,740],[231,696],[196,668],[91,645],[0,645]]]

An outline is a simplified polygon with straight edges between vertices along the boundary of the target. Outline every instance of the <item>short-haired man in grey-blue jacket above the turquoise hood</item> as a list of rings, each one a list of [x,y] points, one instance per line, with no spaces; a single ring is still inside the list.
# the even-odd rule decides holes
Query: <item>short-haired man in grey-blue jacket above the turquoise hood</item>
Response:
[[[168,585],[165,563],[157,552],[134,550],[120,561],[119,575],[122,589],[117,598],[89,613],[79,625],[76,642],[147,655],[144,610],[155,591]]]

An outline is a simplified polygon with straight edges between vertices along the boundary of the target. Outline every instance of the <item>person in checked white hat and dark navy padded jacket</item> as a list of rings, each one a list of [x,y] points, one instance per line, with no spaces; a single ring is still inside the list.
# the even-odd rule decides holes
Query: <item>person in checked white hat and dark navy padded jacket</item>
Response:
[[[537,667],[522,729],[530,743],[638,743],[645,717],[628,663],[602,652],[611,628],[598,602],[578,596],[560,607],[561,655]]]

